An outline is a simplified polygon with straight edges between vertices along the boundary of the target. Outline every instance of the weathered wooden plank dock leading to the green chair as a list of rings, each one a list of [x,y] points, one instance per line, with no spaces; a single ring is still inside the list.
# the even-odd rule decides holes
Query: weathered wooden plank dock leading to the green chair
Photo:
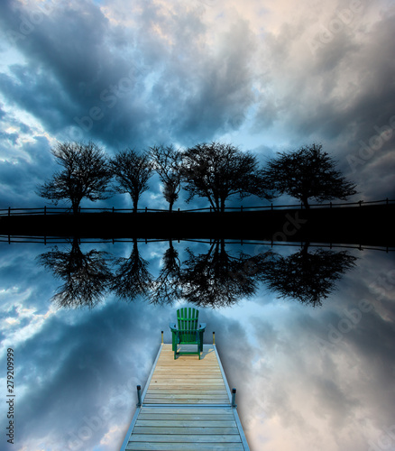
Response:
[[[201,360],[161,345],[121,451],[249,450],[232,396],[216,345]]]

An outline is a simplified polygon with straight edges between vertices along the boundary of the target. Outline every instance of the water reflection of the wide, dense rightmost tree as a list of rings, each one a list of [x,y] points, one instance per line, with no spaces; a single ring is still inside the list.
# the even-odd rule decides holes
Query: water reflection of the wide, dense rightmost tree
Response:
[[[318,249],[308,253],[308,244],[288,257],[280,254],[266,264],[260,279],[279,298],[297,299],[319,306],[335,290],[335,281],[354,266],[356,257],[347,251],[334,252]]]

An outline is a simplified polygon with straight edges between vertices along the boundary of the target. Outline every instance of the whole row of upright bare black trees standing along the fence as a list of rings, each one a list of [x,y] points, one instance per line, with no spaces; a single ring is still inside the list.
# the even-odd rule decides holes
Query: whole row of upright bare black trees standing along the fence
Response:
[[[195,196],[207,198],[214,211],[225,211],[225,201],[234,195],[271,200],[288,194],[308,208],[309,198],[345,200],[356,193],[319,144],[279,153],[264,168],[253,153],[228,143],[201,143],[187,150],[161,145],[140,153],[125,149],[114,157],[92,142],[58,143],[51,153],[63,169],[37,193],[55,204],[70,201],[74,213],[83,198],[95,201],[115,193],[129,194],[136,212],[155,171],[170,211],[181,187],[188,192],[187,202]]]

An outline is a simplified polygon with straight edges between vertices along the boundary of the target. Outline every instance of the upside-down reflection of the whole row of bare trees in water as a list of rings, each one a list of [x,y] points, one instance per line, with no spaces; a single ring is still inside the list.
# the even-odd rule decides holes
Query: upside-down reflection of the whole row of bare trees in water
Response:
[[[353,269],[356,258],[347,251],[308,250],[283,256],[272,250],[232,255],[224,240],[213,241],[207,252],[188,251],[180,262],[171,240],[156,278],[139,253],[137,240],[129,257],[114,258],[106,252],[83,253],[78,239],[69,249],[42,253],[39,262],[63,281],[52,300],[59,307],[95,307],[113,291],[118,299],[148,299],[169,304],[184,299],[202,307],[231,306],[252,297],[263,283],[279,298],[319,306],[334,290],[342,274]]]

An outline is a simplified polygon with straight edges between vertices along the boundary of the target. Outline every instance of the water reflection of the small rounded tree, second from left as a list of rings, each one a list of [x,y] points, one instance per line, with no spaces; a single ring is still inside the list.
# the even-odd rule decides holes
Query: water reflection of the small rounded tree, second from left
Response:
[[[139,253],[137,239],[133,239],[133,249],[129,258],[115,260],[115,274],[111,290],[121,299],[132,300],[136,296],[147,296],[152,286],[152,274],[147,271],[149,263]]]

